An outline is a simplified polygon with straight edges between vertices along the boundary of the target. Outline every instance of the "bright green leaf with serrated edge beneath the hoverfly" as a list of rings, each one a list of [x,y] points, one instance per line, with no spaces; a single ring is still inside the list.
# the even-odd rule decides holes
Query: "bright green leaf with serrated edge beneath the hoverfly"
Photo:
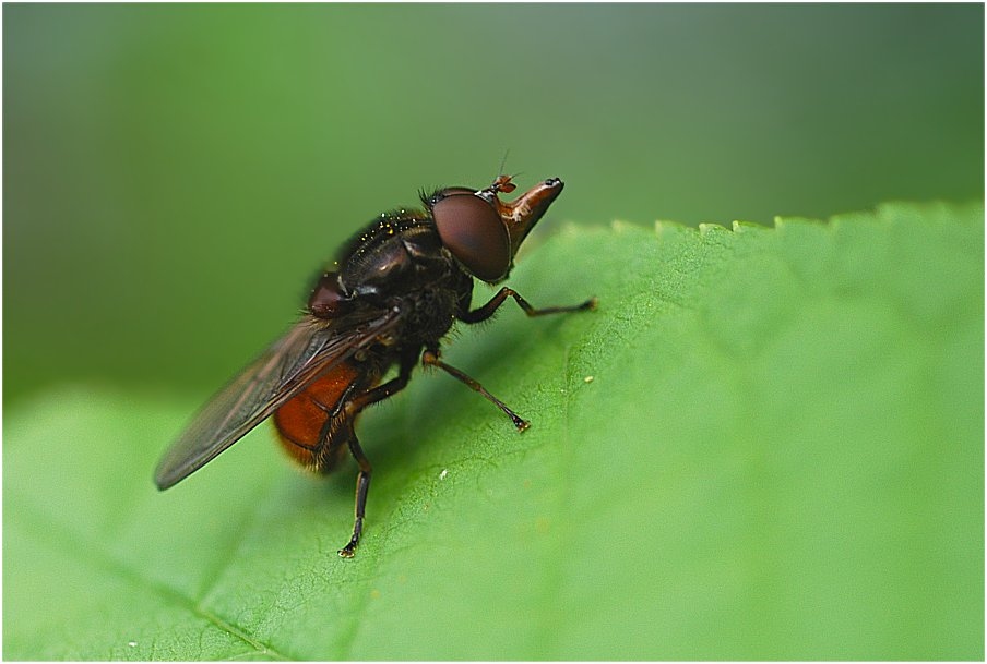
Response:
[[[350,560],[353,466],[266,426],[159,494],[198,399],[8,413],[4,657],[984,657],[982,205],[567,228],[512,285],[599,309],[448,347],[523,435],[441,374],[362,419]]]

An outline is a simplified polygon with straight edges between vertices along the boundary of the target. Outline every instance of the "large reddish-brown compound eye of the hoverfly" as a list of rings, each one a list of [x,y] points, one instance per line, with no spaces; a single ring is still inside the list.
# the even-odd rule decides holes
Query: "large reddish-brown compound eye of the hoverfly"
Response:
[[[497,281],[511,267],[511,239],[494,206],[473,194],[445,196],[432,206],[439,237],[474,276]]]

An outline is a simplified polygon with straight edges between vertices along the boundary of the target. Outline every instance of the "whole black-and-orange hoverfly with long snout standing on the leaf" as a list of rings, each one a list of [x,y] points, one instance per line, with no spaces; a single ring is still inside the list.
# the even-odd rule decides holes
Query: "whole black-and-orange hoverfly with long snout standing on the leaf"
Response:
[[[594,309],[535,309],[501,288],[471,309],[474,278],[507,278],[518,248],[562,191],[562,181],[539,182],[512,202],[514,183],[500,176],[483,190],[465,186],[423,193],[424,210],[381,214],[340,252],[319,277],[301,321],[219,390],[162,458],[158,488],[186,479],[273,415],[283,447],[318,472],[356,460],[356,518],[352,557],[364,529],[371,467],[354,431],[359,413],[403,389],[419,362],[451,374],[495,403],[519,431],[528,423],[479,383],[440,359],[440,342],[456,321],[486,321],[508,299],[528,316]],[[395,377],[383,382],[388,371]]]

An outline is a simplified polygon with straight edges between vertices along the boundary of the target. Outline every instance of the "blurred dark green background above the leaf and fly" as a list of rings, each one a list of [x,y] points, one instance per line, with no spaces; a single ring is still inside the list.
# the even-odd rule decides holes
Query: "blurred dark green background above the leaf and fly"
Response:
[[[204,395],[506,150],[542,232],[982,198],[983,53],[979,4],[7,4],[4,403]]]

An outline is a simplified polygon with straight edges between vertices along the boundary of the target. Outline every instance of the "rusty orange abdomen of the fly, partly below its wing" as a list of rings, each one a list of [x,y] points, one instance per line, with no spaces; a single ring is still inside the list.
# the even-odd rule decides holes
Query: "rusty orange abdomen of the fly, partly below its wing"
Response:
[[[366,366],[347,361],[313,381],[274,413],[282,447],[308,469],[332,470],[347,451],[353,431],[345,402],[378,379]]]

